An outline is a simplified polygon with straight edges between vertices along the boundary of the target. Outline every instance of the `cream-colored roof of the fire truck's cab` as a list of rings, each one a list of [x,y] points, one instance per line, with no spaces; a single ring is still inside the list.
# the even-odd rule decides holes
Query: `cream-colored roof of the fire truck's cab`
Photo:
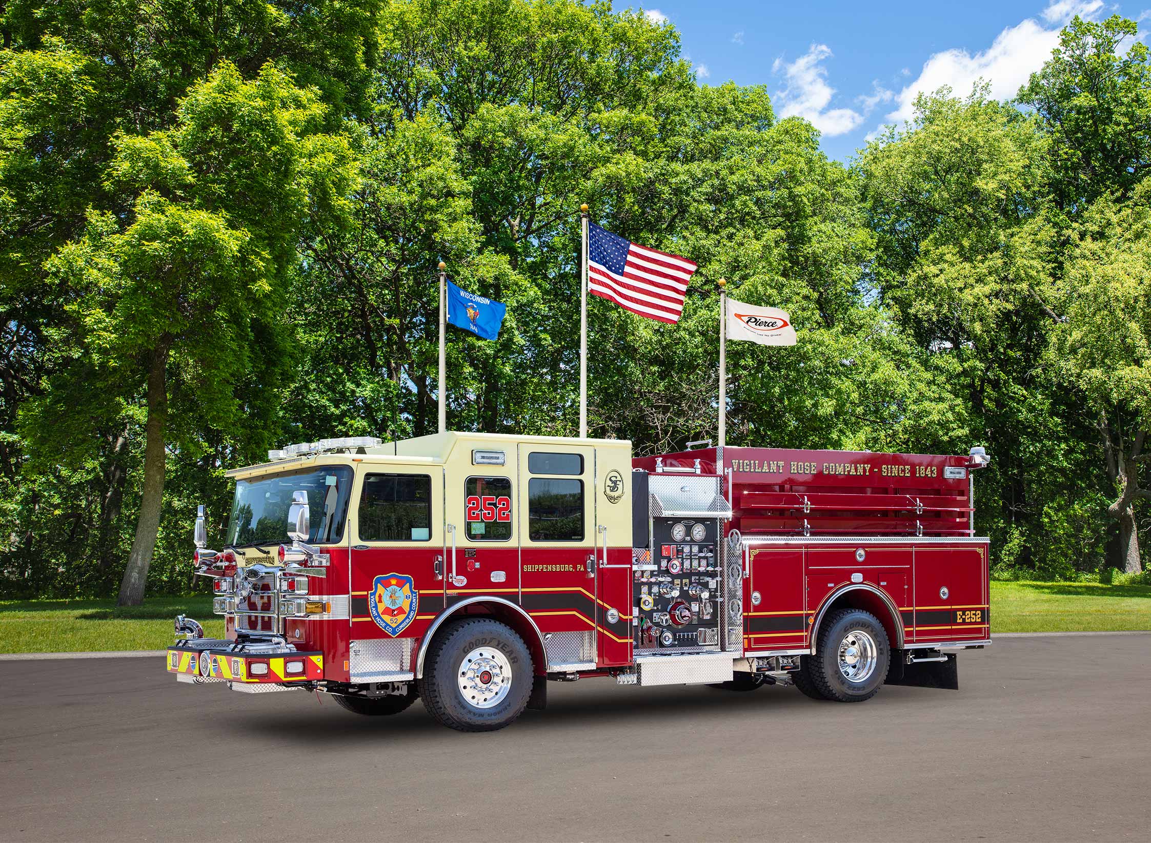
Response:
[[[600,450],[624,450],[631,455],[630,439],[590,439],[578,436],[520,436],[517,434],[470,434],[449,430],[443,434],[418,436],[412,439],[386,442],[380,445],[343,451],[292,457],[274,462],[260,462],[243,468],[234,468],[226,473],[228,477],[246,478],[260,474],[307,468],[308,466],[352,465],[444,465],[451,458],[456,447],[463,449],[514,449],[525,445],[588,445]]]

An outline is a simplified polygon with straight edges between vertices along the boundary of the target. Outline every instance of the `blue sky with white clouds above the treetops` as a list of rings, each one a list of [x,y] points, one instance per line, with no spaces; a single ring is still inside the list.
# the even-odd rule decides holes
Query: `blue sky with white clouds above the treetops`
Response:
[[[767,85],[776,114],[810,120],[823,132],[824,151],[841,161],[877,128],[910,116],[918,91],[948,84],[966,94],[982,77],[994,97],[1013,97],[1074,14],[1139,20],[1141,38],[1151,26],[1151,0],[626,5],[676,25],[701,82]]]

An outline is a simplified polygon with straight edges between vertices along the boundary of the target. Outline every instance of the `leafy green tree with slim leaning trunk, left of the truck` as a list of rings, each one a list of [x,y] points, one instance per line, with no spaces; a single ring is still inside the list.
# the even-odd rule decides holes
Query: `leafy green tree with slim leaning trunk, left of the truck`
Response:
[[[26,422],[59,437],[89,417],[62,412],[60,397],[92,392],[94,383],[107,388],[99,390],[105,397],[130,393],[132,380],[145,378],[144,484],[121,604],[144,596],[169,420],[186,413],[229,427],[241,413],[259,415],[235,390],[261,357],[272,367],[261,378],[276,384],[268,344],[282,328],[295,235],[315,175],[308,161],[333,146],[341,158],[341,141],[312,135],[323,113],[315,94],[272,66],[245,82],[221,62],[178,113],[170,130],[116,138],[108,178],[138,191],[130,215],[92,212],[84,236],[48,261],[51,276],[73,291],[73,347],[84,350],[60,381],[83,386],[58,384],[49,393],[56,400],[37,403]],[[275,397],[273,389],[249,393]]]

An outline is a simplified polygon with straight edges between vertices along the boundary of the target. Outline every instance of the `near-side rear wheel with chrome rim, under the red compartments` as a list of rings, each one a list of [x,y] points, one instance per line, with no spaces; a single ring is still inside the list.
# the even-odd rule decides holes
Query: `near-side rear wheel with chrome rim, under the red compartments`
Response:
[[[879,619],[857,608],[841,610],[820,630],[818,650],[809,660],[811,682],[828,699],[862,703],[878,693],[890,660]]]

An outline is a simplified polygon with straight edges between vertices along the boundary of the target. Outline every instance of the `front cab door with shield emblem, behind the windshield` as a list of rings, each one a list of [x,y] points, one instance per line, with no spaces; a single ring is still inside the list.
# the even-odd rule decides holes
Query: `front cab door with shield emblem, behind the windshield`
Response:
[[[361,465],[350,521],[351,661],[410,670],[413,642],[444,605],[443,468]]]

